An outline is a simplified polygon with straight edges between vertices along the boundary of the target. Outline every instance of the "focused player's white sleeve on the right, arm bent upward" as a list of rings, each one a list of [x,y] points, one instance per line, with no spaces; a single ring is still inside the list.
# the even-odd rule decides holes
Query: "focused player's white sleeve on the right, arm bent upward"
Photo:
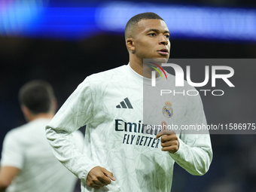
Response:
[[[184,126],[207,125],[200,96],[188,96]],[[204,175],[212,162],[212,145],[208,130],[184,130],[179,136],[179,148],[170,154],[179,166],[192,175]]]

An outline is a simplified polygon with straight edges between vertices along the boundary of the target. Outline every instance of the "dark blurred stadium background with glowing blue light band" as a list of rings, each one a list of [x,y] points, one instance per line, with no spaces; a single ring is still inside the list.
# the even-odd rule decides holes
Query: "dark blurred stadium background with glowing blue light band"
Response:
[[[255,1],[0,0],[0,149],[8,130],[25,123],[17,100],[23,84],[49,81],[61,106],[87,75],[129,61],[124,26],[146,11],[166,20],[171,58],[256,58]],[[254,77],[255,69],[245,66],[235,75]],[[237,118],[256,123],[255,81],[251,78],[243,94],[230,97],[228,106],[227,100],[202,98],[208,122],[218,123],[218,114],[230,123]],[[209,172],[193,176],[176,165],[172,192],[256,191],[256,136],[211,138]]]

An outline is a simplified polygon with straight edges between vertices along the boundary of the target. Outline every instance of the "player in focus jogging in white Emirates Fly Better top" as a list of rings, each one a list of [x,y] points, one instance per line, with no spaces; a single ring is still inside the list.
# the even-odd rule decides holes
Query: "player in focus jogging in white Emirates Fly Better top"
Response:
[[[212,161],[209,134],[146,130],[143,84],[151,82],[151,70],[143,75],[143,59],[167,62],[169,29],[157,14],[138,14],[126,24],[125,38],[130,63],[87,77],[47,125],[47,139],[56,158],[81,179],[83,192],[169,192],[175,162],[193,175],[208,171]],[[162,125],[206,123],[200,96],[175,100],[171,118],[160,111]],[[81,154],[70,137],[84,125]]]

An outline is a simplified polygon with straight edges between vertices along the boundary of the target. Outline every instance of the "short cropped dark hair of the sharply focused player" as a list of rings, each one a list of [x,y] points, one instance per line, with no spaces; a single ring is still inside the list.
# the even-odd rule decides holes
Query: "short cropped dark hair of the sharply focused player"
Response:
[[[145,12],[142,14],[136,14],[130,20],[126,23],[125,31],[124,31],[124,36],[125,39],[131,37],[131,29],[138,23],[140,20],[163,20],[162,17],[160,17],[158,14],[155,14],[153,12]]]

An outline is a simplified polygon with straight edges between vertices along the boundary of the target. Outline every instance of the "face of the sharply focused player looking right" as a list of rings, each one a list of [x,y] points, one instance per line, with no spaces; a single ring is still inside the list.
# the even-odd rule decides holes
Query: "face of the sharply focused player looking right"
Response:
[[[140,20],[134,37],[138,59],[160,59],[167,62],[170,53],[169,30],[163,20]]]

